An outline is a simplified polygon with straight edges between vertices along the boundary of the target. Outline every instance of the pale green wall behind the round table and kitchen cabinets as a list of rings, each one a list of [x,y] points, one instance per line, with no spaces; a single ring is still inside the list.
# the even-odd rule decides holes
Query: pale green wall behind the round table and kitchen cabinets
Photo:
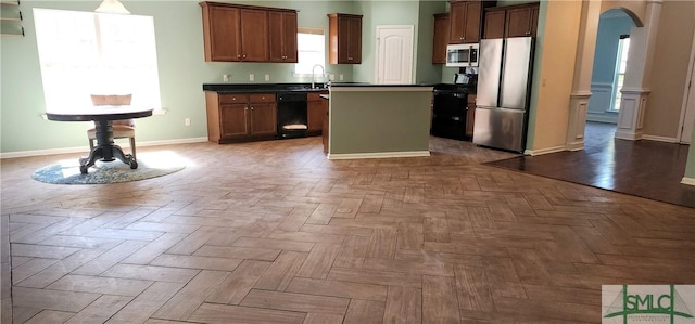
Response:
[[[440,67],[431,65],[431,22],[425,20],[429,11],[442,8],[444,0],[428,1],[227,1],[254,5],[298,9],[300,27],[323,27],[328,33],[326,14],[362,13],[363,64],[327,65],[326,70],[344,81],[374,81],[375,31],[377,25],[403,24],[415,26],[414,73],[417,82],[437,82]],[[308,82],[311,78],[293,76],[294,65],[282,63],[204,62],[201,9],[198,1],[123,1],[139,15],[154,17],[160,72],[160,88],[166,114],[142,118],[138,124],[139,142],[166,142],[206,137],[203,83],[222,82],[223,75],[231,75],[229,82],[247,83],[249,74],[255,82]],[[41,73],[34,31],[34,8],[93,11],[99,1],[22,1],[25,37],[0,38],[0,153],[87,147],[85,130],[89,122],[58,122],[41,118],[45,112]],[[429,20],[429,17],[428,17]],[[426,26],[420,26],[426,25]],[[422,35],[418,34],[422,28]],[[424,40],[425,39],[425,40]],[[422,49],[418,44],[422,42]],[[328,47],[328,43],[326,44]],[[418,60],[419,59],[419,60]],[[190,118],[186,127],[184,119]],[[30,131],[27,131],[30,130]]]

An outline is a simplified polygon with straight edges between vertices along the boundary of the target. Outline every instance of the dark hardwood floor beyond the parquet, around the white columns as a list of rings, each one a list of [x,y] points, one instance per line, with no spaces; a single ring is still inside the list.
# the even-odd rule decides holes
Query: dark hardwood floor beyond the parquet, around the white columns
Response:
[[[611,124],[587,122],[583,151],[489,165],[695,208],[695,186],[680,183],[687,145],[617,140],[615,130]]]

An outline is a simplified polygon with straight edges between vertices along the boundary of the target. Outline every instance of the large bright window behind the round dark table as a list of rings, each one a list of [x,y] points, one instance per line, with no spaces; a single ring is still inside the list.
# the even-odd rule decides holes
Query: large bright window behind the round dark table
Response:
[[[91,105],[90,94],[132,94],[161,108],[151,16],[34,9],[48,112]]]

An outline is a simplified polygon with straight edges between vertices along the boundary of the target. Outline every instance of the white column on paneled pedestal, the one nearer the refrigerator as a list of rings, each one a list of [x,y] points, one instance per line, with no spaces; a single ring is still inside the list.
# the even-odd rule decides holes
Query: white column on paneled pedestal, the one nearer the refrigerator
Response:
[[[601,1],[582,2],[582,21],[577,47],[577,62],[572,80],[572,93],[570,94],[569,121],[565,143],[569,151],[584,148],[584,129],[586,127],[589,99],[591,98],[591,75],[594,66],[599,16]]]

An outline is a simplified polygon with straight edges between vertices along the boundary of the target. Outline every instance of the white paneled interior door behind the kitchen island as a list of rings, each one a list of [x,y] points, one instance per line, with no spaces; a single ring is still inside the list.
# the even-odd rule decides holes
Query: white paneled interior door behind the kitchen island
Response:
[[[377,26],[377,85],[413,82],[413,26]]]

